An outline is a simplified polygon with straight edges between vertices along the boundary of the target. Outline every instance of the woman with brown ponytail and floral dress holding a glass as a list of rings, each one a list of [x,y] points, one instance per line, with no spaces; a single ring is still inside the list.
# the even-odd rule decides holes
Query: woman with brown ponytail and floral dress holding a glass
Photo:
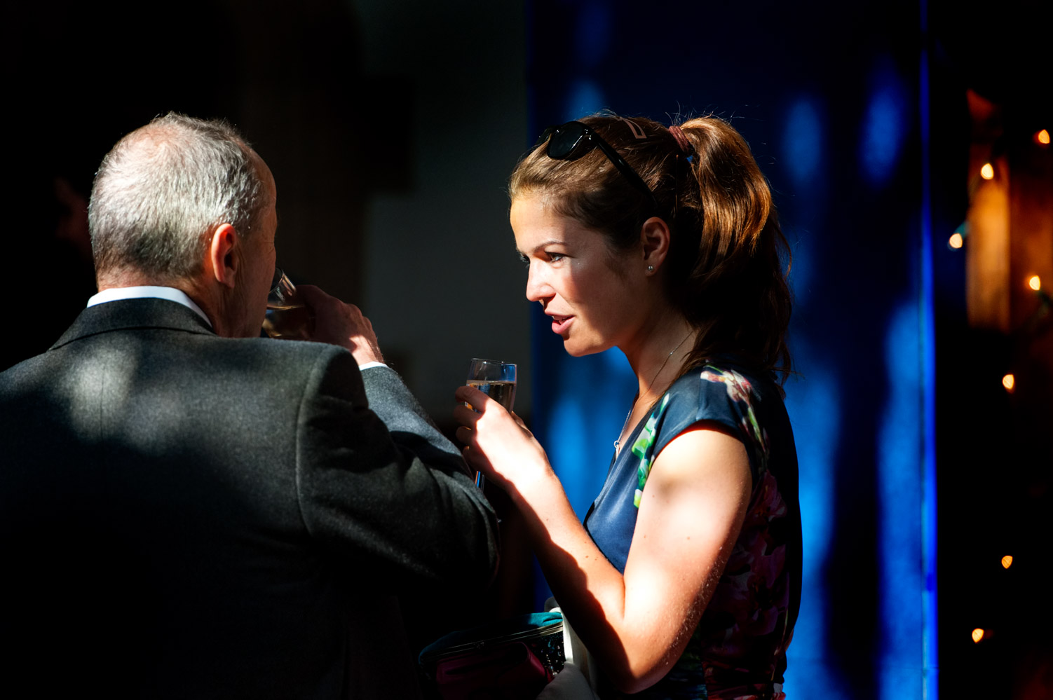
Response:
[[[749,146],[712,117],[589,117],[547,129],[509,191],[526,297],[571,355],[623,352],[638,394],[583,523],[533,435],[472,387],[465,459],[522,513],[600,697],[782,698],[801,567],[789,255]]]

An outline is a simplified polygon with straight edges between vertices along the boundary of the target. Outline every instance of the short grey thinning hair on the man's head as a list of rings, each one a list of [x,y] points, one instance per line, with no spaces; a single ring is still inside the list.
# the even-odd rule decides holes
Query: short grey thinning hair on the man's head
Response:
[[[96,275],[136,272],[162,283],[199,274],[219,224],[251,238],[269,199],[261,176],[226,122],[170,113],[132,132],[95,175]]]

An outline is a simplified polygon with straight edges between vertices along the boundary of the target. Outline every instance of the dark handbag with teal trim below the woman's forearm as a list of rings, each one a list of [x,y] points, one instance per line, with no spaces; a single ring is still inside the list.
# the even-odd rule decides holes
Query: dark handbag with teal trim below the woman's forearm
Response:
[[[454,632],[417,660],[442,700],[534,700],[563,667],[563,616],[532,613]]]

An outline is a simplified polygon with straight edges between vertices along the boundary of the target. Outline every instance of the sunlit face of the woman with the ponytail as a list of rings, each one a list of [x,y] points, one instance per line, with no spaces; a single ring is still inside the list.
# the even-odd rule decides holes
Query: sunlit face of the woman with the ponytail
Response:
[[[512,202],[516,247],[530,266],[526,298],[541,302],[573,356],[623,346],[645,315],[642,257],[526,196]],[[637,269],[639,268],[639,269]]]

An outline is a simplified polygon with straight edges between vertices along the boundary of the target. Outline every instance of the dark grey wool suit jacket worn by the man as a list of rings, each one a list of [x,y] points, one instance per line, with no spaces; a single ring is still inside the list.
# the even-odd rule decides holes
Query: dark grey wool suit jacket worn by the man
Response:
[[[392,594],[486,586],[495,518],[463,469],[342,348],[87,308],[0,374],[0,684],[401,697],[362,680],[392,668],[353,627],[382,639]]]

